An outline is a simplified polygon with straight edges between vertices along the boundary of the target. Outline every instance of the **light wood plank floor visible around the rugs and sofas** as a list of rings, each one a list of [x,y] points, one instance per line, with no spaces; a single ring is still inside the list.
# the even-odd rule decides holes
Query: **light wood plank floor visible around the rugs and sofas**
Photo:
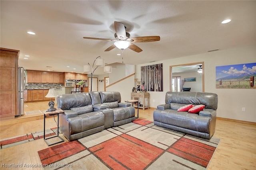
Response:
[[[48,102],[26,103],[25,111],[46,110]],[[139,110],[139,117],[153,121],[154,109]],[[217,110],[218,114],[218,110]],[[42,131],[44,119],[36,118],[22,122],[23,117],[16,118],[16,123],[0,122],[0,139]],[[12,123],[12,121],[10,121]],[[53,117],[46,118],[46,129],[56,127]],[[62,135],[61,135],[62,136]],[[217,119],[214,137],[221,139],[208,170],[256,170],[256,126]],[[58,144],[56,144],[58,145]],[[36,164],[40,165],[37,151],[48,148],[43,139],[24,143],[0,150],[0,164]],[[1,170],[20,170],[22,168],[5,168]],[[23,168],[43,170],[43,168]]]

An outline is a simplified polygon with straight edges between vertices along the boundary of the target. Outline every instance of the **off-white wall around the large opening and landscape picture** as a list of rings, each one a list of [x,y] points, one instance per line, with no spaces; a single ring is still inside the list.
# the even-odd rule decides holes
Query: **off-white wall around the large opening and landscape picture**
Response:
[[[164,91],[150,92],[150,107],[164,104],[165,94],[170,91],[171,65],[196,62],[204,62],[204,91],[218,94],[217,116],[256,122],[256,89],[216,89],[215,87],[216,66],[256,63],[256,45],[137,65],[136,75],[140,79],[141,66],[163,63]],[[242,111],[242,107],[245,107],[246,111]]]

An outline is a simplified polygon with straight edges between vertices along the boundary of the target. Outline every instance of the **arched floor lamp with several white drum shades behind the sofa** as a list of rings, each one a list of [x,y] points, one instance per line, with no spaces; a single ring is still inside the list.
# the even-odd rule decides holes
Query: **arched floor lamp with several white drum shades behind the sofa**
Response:
[[[96,66],[96,68],[94,68],[94,64]],[[103,67],[104,66],[104,72],[106,73],[110,73],[112,72],[112,66],[105,66],[105,60],[104,59],[101,59],[100,56],[97,57],[92,66],[88,63],[88,65],[84,65],[84,72],[86,73],[91,73],[91,88],[90,88],[90,91],[92,91],[92,75],[94,73],[94,71],[98,68],[98,67]],[[94,69],[93,69],[94,68]]]

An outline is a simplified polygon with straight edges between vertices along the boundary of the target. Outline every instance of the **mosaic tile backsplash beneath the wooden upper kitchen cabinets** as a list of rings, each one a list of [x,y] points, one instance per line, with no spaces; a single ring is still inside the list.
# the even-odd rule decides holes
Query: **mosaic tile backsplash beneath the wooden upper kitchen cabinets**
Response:
[[[62,83],[27,83],[25,86],[25,90],[33,90],[33,89],[61,89],[63,86]]]

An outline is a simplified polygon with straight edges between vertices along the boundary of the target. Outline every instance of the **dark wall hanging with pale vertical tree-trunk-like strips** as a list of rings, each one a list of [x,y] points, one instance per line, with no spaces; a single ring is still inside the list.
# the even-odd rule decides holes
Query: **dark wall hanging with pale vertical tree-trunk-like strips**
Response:
[[[145,91],[163,91],[163,64],[140,67],[141,84]]]

